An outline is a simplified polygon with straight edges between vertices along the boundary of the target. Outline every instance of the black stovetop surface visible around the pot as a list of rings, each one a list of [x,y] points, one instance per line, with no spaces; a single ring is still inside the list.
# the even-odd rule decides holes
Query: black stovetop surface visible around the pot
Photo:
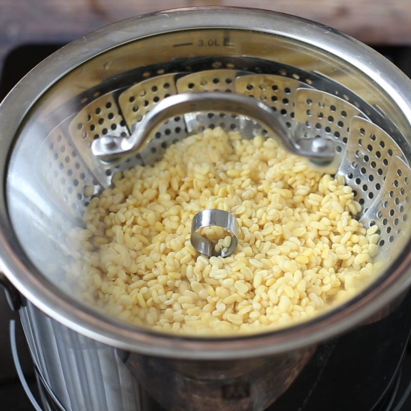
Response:
[[[35,64],[61,45],[27,45],[13,50],[0,76],[0,101]],[[411,47],[377,48],[411,77]],[[3,294],[0,293],[0,303]],[[0,304],[0,306],[4,304]],[[267,411],[406,411],[411,409],[411,347],[406,346],[411,329],[411,293],[401,307],[386,319],[360,327],[320,346],[313,359],[289,390]],[[1,315],[6,316],[1,318]],[[11,312],[3,310],[5,328]],[[15,315],[13,316],[15,317]],[[23,369],[34,395],[38,396],[28,349],[18,341]],[[6,329],[0,335],[1,409],[32,411],[11,361]],[[390,353],[387,359],[386,352]],[[344,366],[341,366],[341,365]],[[0,367],[2,368],[2,367]],[[160,411],[152,403],[151,409]],[[77,411],[77,410],[76,410]],[[86,410],[78,410],[86,411]]]

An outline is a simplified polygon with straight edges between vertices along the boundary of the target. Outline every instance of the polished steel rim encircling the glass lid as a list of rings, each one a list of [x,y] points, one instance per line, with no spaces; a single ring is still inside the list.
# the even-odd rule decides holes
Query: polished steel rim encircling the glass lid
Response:
[[[207,12],[204,12],[207,11]],[[330,27],[300,17],[238,7],[193,7],[128,18],[74,41],[32,69],[0,104],[0,140],[8,154],[15,134],[33,104],[72,69],[96,55],[147,36],[201,28],[253,30],[306,43],[357,67],[375,81],[411,123],[411,81],[379,53]],[[401,88],[397,85],[401,84]],[[239,337],[195,338],[154,332],[108,318],[72,300],[30,262],[7,212],[7,162],[0,170],[0,265],[10,282],[45,314],[87,337],[122,349],[156,356],[230,359],[276,354],[331,338],[366,320],[411,284],[411,240],[370,287],[352,300],[314,319],[288,328]]]

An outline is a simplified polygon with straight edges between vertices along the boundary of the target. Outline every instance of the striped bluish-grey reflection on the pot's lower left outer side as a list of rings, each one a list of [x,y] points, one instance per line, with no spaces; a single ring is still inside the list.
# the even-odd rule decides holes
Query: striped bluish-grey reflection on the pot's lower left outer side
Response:
[[[20,311],[34,364],[67,411],[139,411],[137,381],[121,351],[88,339],[28,303]]]

